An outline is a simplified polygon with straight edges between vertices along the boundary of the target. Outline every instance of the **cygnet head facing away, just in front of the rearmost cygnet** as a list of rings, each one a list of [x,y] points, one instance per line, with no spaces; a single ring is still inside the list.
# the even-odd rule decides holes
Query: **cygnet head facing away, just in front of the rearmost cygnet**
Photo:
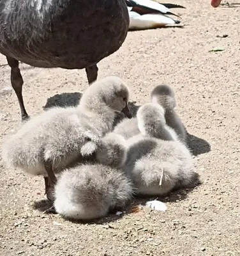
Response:
[[[146,103],[137,111],[139,130],[144,135],[158,138],[158,133],[166,124],[165,111],[157,103]]]

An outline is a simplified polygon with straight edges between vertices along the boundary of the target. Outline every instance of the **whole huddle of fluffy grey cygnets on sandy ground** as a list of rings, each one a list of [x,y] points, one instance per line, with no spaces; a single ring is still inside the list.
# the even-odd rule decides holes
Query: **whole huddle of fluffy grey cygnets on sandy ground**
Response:
[[[50,108],[24,122],[4,141],[3,160],[42,175],[54,211],[75,220],[124,209],[133,196],[192,186],[197,173],[174,92],[160,85],[149,98],[132,117],[128,86],[105,77],[77,107]],[[114,126],[117,112],[126,118]]]

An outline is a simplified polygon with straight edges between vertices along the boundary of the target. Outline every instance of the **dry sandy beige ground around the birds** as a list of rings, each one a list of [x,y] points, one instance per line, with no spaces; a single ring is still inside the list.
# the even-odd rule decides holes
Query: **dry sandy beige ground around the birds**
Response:
[[[130,32],[123,47],[100,62],[99,78],[122,77],[138,104],[149,100],[156,84],[174,88],[202,184],[160,198],[165,212],[143,207],[73,223],[43,213],[42,178],[6,170],[1,162],[0,255],[240,255],[240,9],[214,9],[210,0],[169,2],[186,6],[176,10],[185,27]],[[225,50],[209,52],[213,47]],[[20,111],[4,56],[0,64],[2,141],[20,124]],[[29,115],[43,111],[57,93],[88,86],[84,70],[20,68]]]

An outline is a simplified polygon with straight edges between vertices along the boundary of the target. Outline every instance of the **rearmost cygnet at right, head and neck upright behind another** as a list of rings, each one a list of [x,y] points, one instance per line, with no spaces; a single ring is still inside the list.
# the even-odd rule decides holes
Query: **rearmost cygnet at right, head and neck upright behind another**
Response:
[[[165,109],[165,119],[167,125],[176,131],[179,139],[186,142],[186,129],[183,122],[175,111],[176,97],[174,91],[167,85],[156,86],[151,93],[152,102],[160,104]]]

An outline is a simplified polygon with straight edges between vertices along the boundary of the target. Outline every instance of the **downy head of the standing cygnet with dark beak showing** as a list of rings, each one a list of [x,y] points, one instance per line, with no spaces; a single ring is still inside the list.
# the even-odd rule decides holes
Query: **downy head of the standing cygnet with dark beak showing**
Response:
[[[124,81],[117,76],[109,76],[94,82],[87,88],[80,99],[80,106],[88,109],[101,109],[107,106],[112,111],[123,112],[131,118],[128,109],[129,98],[128,86]]]

